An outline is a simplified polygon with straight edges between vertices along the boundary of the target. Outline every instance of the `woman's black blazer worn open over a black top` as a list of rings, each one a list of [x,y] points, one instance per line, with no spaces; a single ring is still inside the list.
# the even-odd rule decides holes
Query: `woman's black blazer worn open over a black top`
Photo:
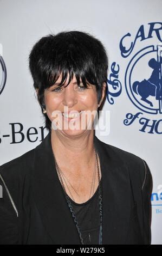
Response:
[[[146,162],[96,136],[94,144],[103,182],[103,245],[149,244],[151,174]],[[0,174],[0,244],[80,244],[56,173],[50,133],[35,149],[3,164]]]

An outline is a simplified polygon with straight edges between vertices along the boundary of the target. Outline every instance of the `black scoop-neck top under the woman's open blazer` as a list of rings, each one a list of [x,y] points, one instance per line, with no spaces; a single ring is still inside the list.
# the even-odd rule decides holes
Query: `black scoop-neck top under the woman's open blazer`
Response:
[[[100,180],[102,191],[102,178]],[[99,186],[85,203],[77,204],[71,198],[71,205],[85,245],[98,245],[100,234]]]

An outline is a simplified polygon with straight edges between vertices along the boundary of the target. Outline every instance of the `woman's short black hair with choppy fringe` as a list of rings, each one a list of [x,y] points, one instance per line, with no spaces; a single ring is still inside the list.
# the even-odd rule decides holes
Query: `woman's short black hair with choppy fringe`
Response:
[[[103,83],[107,81],[108,58],[102,43],[94,36],[80,31],[60,32],[47,35],[34,45],[29,56],[29,68],[38,90],[38,101],[43,108],[44,90],[53,86],[60,75],[63,86],[75,75],[78,86],[87,82],[96,86],[98,103],[101,100]],[[67,86],[68,86],[67,84]],[[47,114],[46,127],[51,130],[51,121]]]

